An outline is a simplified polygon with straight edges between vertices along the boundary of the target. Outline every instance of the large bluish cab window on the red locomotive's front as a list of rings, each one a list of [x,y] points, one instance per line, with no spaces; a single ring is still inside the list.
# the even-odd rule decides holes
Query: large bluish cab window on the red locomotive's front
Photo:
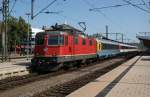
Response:
[[[48,45],[64,45],[64,36],[60,35],[49,36]]]

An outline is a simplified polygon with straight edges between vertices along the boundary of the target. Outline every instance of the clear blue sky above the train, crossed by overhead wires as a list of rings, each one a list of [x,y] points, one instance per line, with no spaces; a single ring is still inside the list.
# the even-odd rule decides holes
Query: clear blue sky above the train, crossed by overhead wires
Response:
[[[10,0],[10,9],[14,1],[15,0]],[[35,0],[34,15],[52,1],[53,0]],[[143,4],[143,1],[147,4],[148,8],[145,5],[139,6],[150,11],[150,6],[148,5],[150,0],[130,0],[133,4]],[[89,9],[92,8],[118,4],[127,3],[123,0],[56,0],[56,2],[45,11],[60,12],[59,14],[41,13],[33,20],[30,19],[29,22],[32,27],[36,28],[52,26],[55,25],[55,23],[67,23],[79,29],[81,28],[78,22],[85,22],[87,26],[85,33],[87,34],[105,33],[105,26],[108,25],[109,33],[123,33],[125,38],[131,39],[131,41],[138,41],[138,39],[136,39],[138,32],[150,32],[150,13],[131,5],[89,11]],[[27,20],[25,13],[30,12],[31,0],[17,0],[11,15],[15,17],[22,16]],[[113,34],[109,35],[109,37],[115,39],[115,35]],[[119,36],[118,39],[121,39],[121,36]]]

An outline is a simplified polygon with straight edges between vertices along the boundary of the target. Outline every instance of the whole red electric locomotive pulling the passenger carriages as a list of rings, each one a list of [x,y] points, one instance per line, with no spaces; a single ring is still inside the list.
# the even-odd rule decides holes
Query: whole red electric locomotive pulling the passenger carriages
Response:
[[[66,24],[52,28],[36,35],[33,69],[57,70],[64,64],[70,65],[96,58],[95,38],[90,38]]]

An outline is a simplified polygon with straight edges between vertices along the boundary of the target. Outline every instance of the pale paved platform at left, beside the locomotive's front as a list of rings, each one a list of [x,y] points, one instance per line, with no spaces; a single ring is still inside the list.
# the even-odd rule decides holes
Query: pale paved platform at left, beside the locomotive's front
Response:
[[[31,58],[11,59],[7,62],[0,63],[0,80],[29,74],[28,67],[30,65]]]

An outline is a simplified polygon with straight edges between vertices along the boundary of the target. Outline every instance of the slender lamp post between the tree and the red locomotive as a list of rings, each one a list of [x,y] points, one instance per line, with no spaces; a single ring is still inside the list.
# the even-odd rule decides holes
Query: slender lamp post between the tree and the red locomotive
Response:
[[[30,51],[30,39],[29,39],[29,33],[30,33],[30,27],[29,27],[29,18],[30,18],[30,13],[26,13],[25,15],[28,16],[28,33],[27,33],[27,60],[29,58],[29,51]]]

